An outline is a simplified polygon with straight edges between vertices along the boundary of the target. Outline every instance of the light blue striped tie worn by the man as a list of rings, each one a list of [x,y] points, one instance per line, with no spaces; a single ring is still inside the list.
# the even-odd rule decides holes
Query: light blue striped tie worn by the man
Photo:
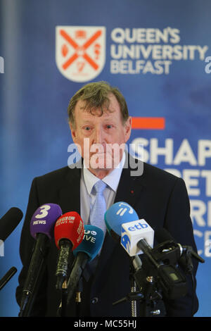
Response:
[[[90,213],[90,224],[100,227],[104,234],[106,233],[106,224],[104,221],[104,214],[106,213],[106,200],[103,196],[103,190],[106,188],[106,184],[102,180],[98,180],[95,183],[93,193],[96,193],[96,200]]]

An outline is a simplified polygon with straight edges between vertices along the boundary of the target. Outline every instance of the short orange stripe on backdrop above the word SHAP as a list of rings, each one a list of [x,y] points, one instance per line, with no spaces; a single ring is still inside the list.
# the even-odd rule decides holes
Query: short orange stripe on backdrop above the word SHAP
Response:
[[[146,130],[164,130],[165,118],[163,117],[133,117],[132,129],[146,129]]]

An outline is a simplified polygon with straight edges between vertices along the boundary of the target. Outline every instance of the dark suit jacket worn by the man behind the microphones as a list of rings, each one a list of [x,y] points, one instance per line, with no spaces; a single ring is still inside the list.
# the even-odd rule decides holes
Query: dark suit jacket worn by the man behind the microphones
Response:
[[[63,213],[80,213],[79,168],[68,167],[34,178],[20,240],[20,257],[23,270],[19,275],[16,299],[20,304],[27,268],[32,255],[34,239],[30,235],[30,219],[42,204],[58,204]],[[130,204],[139,218],[158,230],[165,227],[177,242],[190,245],[196,250],[193,227],[189,216],[189,200],[184,181],[164,170],[143,163],[143,175],[132,177],[131,169],[124,168],[117,188],[115,202]],[[56,263],[58,249],[51,242],[46,259],[44,275],[34,301],[32,316],[56,316],[60,303],[60,292],[56,292]],[[198,263],[194,262],[194,276]],[[108,233],[94,275],[84,273],[81,316],[131,316],[131,303],[124,302],[113,306],[130,292],[130,259],[127,252]],[[188,279],[188,294],[181,299],[165,299],[167,316],[192,316],[198,310],[195,289]],[[76,316],[75,302],[68,307],[69,316]],[[139,311],[138,311],[139,315]]]

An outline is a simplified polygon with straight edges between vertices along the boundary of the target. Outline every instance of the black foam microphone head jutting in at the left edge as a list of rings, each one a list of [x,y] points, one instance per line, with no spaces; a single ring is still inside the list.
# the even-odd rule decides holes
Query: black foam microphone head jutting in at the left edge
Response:
[[[23,213],[19,208],[13,207],[0,219],[0,238],[3,242],[11,235],[15,227],[23,218]]]

